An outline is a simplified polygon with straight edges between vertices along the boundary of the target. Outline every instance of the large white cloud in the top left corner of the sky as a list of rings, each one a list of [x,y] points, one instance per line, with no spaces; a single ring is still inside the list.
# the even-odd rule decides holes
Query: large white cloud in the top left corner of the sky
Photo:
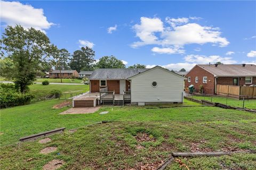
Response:
[[[25,29],[33,27],[43,32],[54,24],[47,21],[42,8],[5,1],[1,1],[1,22],[11,26],[20,24]]]

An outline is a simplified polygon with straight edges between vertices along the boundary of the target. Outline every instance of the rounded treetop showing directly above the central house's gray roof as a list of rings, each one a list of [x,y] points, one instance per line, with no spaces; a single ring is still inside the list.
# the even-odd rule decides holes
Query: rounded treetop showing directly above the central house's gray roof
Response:
[[[122,69],[125,65],[121,60],[118,60],[115,56],[103,56],[99,62],[95,64],[95,67],[100,69]]]

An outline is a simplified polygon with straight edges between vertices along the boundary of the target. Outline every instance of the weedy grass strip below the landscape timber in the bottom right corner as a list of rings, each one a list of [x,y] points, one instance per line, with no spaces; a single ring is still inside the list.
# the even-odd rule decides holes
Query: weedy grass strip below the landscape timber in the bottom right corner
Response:
[[[256,154],[233,154],[220,157],[197,157],[197,158],[177,158],[182,160],[190,169],[248,169],[256,167]],[[178,162],[172,162],[165,168],[166,170],[180,170],[187,168],[180,167]]]

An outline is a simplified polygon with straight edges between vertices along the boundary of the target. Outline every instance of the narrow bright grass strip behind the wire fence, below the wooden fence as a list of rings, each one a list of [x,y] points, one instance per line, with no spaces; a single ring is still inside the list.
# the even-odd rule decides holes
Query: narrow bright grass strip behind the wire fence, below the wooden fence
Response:
[[[234,98],[227,98],[226,97],[221,97],[221,96],[213,96],[212,98],[210,96],[193,96],[193,98],[195,99],[199,99],[199,100],[209,100],[212,102],[216,102],[216,103],[222,103],[229,106],[235,106],[235,107],[243,107],[243,100],[238,100],[238,99],[234,99]],[[244,107],[245,108],[250,108],[250,109],[256,109],[256,99],[253,100],[244,100]]]

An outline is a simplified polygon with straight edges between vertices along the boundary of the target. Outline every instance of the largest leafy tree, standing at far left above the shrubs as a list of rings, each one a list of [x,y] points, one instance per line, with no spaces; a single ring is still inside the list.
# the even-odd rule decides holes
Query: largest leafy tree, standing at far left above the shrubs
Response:
[[[1,39],[1,55],[13,61],[15,72],[12,78],[21,92],[26,92],[36,80],[36,73],[41,69],[40,63],[56,49],[45,33],[34,28],[24,29],[20,25],[7,26]]]

